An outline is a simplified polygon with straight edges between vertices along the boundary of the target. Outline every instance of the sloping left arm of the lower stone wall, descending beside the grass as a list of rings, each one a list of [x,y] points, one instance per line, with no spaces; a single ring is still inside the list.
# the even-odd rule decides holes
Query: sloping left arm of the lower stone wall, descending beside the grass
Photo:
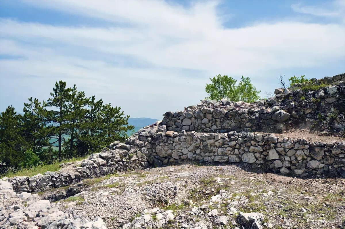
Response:
[[[9,181],[16,192],[38,192],[64,187],[82,179],[115,174],[118,171],[144,169],[149,166],[145,155],[148,153],[146,147],[151,148],[148,142],[139,140],[131,142],[130,145],[115,142],[102,152],[91,154],[88,159],[83,160],[80,167],[74,166],[56,172],[47,171],[43,175],[32,177],[5,177],[4,180]]]

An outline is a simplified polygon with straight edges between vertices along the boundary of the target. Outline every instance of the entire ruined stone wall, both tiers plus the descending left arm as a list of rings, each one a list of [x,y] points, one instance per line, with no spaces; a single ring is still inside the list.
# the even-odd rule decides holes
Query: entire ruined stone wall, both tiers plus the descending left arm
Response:
[[[92,154],[80,167],[4,180],[8,180],[16,192],[37,192],[128,169],[190,160],[245,162],[291,175],[345,175],[345,142],[342,140],[313,143],[304,138],[253,133],[282,133],[301,125],[308,126],[308,123],[339,133],[345,127],[344,76],[332,77],[336,85],[317,91],[301,90],[304,84],[276,89],[274,97],[251,104],[203,100],[196,106],[186,107],[185,111],[166,112],[162,121],[140,129],[125,143],[115,142],[102,152]],[[331,78],[312,83],[326,80]]]

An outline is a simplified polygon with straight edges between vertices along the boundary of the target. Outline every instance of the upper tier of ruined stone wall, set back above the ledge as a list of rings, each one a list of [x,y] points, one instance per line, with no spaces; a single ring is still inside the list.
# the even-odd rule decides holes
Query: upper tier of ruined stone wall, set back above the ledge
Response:
[[[166,125],[169,131],[176,132],[185,130],[204,133],[284,133],[292,128],[312,126],[314,121],[321,120],[319,115],[323,115],[326,121],[330,113],[344,109],[344,81],[338,81],[337,85],[317,91],[305,92],[299,89],[298,85],[294,87],[295,90],[276,89],[274,97],[255,103],[233,103],[226,99],[202,100],[196,106],[186,107],[185,111],[166,112],[162,124]],[[320,123],[318,126],[321,126]],[[333,130],[339,132],[343,128],[345,121],[340,117],[335,120]]]

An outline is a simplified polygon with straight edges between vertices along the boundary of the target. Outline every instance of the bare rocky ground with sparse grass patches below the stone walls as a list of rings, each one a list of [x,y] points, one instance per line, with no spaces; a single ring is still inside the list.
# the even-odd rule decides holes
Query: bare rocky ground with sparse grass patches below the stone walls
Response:
[[[65,199],[52,208],[75,218],[101,217],[108,228],[341,227],[345,179],[261,172],[248,164],[183,164],[83,180],[39,195],[60,193]],[[71,189],[79,193],[66,198]]]

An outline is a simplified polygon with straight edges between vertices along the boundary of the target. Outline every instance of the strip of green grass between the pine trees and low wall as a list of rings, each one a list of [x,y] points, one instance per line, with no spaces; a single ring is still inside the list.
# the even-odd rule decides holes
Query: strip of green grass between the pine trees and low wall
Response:
[[[1,176],[1,178],[2,177],[16,177],[16,176],[28,176],[28,177],[31,177],[31,176],[37,175],[39,173],[43,174],[46,171],[51,171],[51,172],[58,171],[58,170],[61,169],[59,167],[59,165],[61,163],[76,162],[76,161],[82,160],[82,159],[85,159],[85,158],[81,158],[81,157],[79,157],[79,158],[71,158],[71,159],[68,159],[68,160],[62,160],[61,162],[56,161],[55,163],[53,163],[51,165],[42,164],[42,165],[38,165],[36,167],[22,168],[22,169],[19,169],[19,170],[16,170],[16,169],[13,169],[13,168],[9,168],[7,170],[7,172]]]

